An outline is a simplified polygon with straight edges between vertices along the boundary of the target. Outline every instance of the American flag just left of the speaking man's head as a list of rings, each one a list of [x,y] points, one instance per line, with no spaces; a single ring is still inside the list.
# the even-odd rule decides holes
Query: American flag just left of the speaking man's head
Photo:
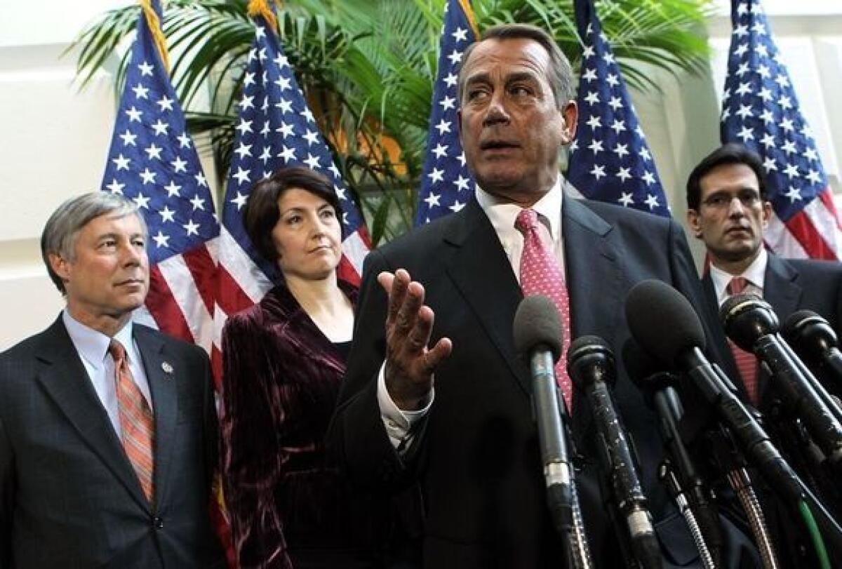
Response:
[[[439,71],[429,114],[427,156],[418,192],[415,225],[459,211],[471,199],[474,180],[459,141],[456,77],[462,54],[477,40],[477,24],[468,0],[448,0],[439,44]]]

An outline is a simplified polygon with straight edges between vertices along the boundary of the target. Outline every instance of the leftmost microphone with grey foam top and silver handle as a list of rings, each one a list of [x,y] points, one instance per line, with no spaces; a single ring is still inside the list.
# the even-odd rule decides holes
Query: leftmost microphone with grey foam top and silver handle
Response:
[[[538,423],[547,503],[556,529],[568,534],[573,524],[564,401],[558,392],[553,366],[562,354],[562,324],[556,305],[544,295],[521,300],[514,313],[514,347],[530,362],[532,401]]]

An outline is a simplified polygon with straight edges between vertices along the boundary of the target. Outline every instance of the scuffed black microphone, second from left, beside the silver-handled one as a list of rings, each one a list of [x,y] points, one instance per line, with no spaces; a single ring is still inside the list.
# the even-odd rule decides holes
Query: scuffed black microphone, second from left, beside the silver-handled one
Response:
[[[568,373],[573,385],[588,397],[598,439],[605,450],[616,505],[626,516],[632,553],[641,566],[660,567],[662,559],[652,515],[647,509],[626,432],[609,391],[608,384],[613,385],[616,381],[614,354],[602,338],[578,338],[568,348]]]

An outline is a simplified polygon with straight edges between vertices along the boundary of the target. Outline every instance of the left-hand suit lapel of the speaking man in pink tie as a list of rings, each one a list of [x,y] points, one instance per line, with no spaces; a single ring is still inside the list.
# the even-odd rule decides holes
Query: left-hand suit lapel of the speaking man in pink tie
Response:
[[[477,200],[471,199],[461,214],[461,219],[454,216],[454,223],[445,231],[445,243],[453,251],[445,261],[447,274],[529,396],[526,365],[517,358],[511,332],[523,293],[497,233]]]

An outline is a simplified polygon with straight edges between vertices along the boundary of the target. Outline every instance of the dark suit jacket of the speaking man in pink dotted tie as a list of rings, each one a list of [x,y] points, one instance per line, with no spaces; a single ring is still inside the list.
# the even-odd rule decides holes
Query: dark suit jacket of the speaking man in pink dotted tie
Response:
[[[619,359],[629,338],[626,293],[662,279],[701,302],[684,232],[673,221],[566,196],[562,232],[573,337],[605,338]],[[424,432],[401,460],[376,401],[385,357],[386,295],[381,270],[408,269],[435,312],[433,340],[453,353],[435,372],[435,400]],[[523,295],[496,233],[475,199],[460,212],[381,247],[365,261],[354,347],[331,438],[354,479],[373,485],[418,481],[426,510],[424,566],[562,566],[546,508],[529,374],[515,354],[514,311]],[[621,371],[616,400],[637,444],[646,488],[668,560],[690,562],[689,534],[658,487],[661,443],[653,413]],[[573,432],[583,455],[579,487],[598,566],[621,566],[605,521],[587,402],[573,400]]]

